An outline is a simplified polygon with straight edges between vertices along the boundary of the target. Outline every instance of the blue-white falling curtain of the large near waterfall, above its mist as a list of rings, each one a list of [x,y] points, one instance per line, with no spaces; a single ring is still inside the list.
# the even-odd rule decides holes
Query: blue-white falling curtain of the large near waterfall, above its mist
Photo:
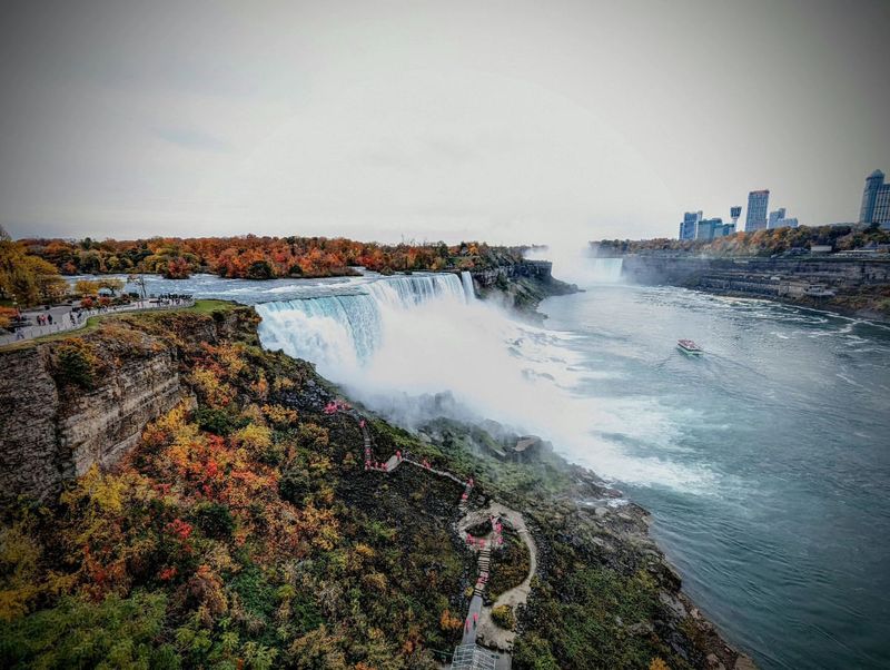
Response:
[[[263,345],[313,361],[323,374],[343,378],[380,346],[387,315],[407,314],[437,300],[466,303],[464,285],[453,274],[387,277],[349,293],[336,290],[256,305],[263,317]]]

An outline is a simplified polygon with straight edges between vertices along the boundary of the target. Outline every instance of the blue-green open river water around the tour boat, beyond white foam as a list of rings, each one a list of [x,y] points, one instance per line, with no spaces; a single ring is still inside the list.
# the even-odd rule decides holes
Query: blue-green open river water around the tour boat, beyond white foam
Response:
[[[763,668],[890,667],[890,329],[670,287],[541,308],[596,373],[575,393],[672,417],[661,439],[605,437],[708,474],[622,489],[728,637]]]

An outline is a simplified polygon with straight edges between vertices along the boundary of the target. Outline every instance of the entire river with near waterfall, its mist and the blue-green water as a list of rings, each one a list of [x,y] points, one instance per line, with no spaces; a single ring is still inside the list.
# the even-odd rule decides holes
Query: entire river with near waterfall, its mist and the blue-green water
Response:
[[[762,668],[890,667],[890,329],[577,263],[585,292],[545,300],[543,327],[454,275],[149,289],[256,304],[265,346],[405,425],[551,440],[653,513],[685,590]]]

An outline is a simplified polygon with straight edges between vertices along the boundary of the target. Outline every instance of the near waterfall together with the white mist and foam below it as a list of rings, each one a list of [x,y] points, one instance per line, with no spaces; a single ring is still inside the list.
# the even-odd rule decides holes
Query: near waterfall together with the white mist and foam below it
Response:
[[[434,415],[493,418],[553,442],[570,460],[625,482],[683,487],[702,473],[631,456],[604,435],[670,440],[673,421],[640,398],[573,392],[596,373],[578,366],[571,335],[521,324],[467,302],[453,274],[382,278],[348,295],[264,303],[266,348],[316,363],[356,400],[407,427]],[[437,403],[448,393],[453,402]]]

